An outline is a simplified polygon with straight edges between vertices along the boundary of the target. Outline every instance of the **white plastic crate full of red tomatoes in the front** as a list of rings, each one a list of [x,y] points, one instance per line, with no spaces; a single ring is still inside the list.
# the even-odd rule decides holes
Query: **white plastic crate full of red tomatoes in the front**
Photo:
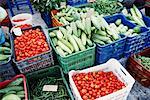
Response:
[[[69,82],[70,82],[70,87],[73,92],[73,95],[75,97],[75,100],[83,100],[80,96],[80,93],[72,79],[72,76],[77,74],[77,73],[88,73],[88,72],[97,72],[97,71],[112,71],[120,81],[125,83],[126,87],[118,90],[114,93],[111,93],[109,95],[97,98],[96,100],[126,100],[127,96],[135,83],[134,78],[127,72],[127,70],[117,61],[116,59],[110,59],[104,64],[97,65],[91,68],[87,68],[84,70],[78,70],[78,71],[70,71],[69,72]]]

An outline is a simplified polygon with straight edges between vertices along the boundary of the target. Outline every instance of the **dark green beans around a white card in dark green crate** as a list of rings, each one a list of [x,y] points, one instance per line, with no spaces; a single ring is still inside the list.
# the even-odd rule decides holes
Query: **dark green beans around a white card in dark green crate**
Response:
[[[32,90],[30,96],[32,100],[69,100],[62,78],[45,77],[33,81],[30,85]],[[44,85],[58,85],[58,90],[57,92],[42,91]]]

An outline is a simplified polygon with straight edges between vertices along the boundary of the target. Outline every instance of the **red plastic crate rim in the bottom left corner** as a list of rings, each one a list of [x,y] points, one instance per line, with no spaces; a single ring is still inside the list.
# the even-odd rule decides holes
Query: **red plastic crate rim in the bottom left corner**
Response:
[[[25,100],[28,100],[28,93],[27,93],[27,85],[26,85],[26,78],[23,74],[16,75],[11,80],[6,80],[4,82],[0,82],[0,89],[5,88],[9,83],[16,80],[17,78],[23,78],[23,85],[24,85],[24,91],[25,91]]]

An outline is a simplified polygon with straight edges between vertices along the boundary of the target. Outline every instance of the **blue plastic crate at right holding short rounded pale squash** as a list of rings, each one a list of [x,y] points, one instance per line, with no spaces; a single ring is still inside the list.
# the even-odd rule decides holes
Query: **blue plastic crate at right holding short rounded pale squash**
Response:
[[[124,15],[117,14],[114,16],[105,17],[108,23],[114,23],[117,19],[121,19],[122,24],[128,26],[130,29],[136,27],[136,24],[129,22]],[[141,33],[137,36],[127,36],[126,45],[124,50],[125,57],[129,57],[133,53],[137,53],[147,47],[149,30],[141,27]]]

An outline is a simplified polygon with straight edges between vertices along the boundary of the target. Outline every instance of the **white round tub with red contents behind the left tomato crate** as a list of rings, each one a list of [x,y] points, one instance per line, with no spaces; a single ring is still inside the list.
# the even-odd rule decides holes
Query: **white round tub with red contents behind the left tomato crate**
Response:
[[[18,20],[18,19],[26,19],[24,21],[21,22],[14,22],[13,20]],[[28,14],[28,13],[22,13],[22,14],[18,14],[14,17],[11,18],[11,23],[15,26],[15,25],[23,25],[23,24],[30,24],[32,25],[32,15]]]

